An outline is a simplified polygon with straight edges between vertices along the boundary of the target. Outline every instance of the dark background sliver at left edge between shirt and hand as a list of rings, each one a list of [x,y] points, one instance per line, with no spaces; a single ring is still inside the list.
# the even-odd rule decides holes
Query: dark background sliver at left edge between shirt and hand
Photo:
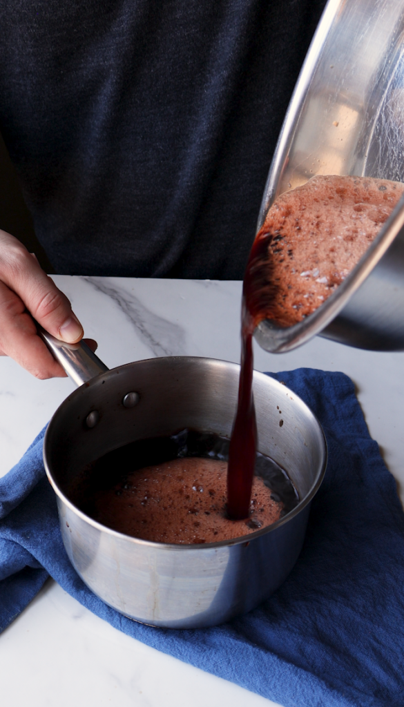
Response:
[[[45,250],[43,250],[35,236],[33,220],[25,205],[23,194],[21,194],[21,189],[18,185],[16,170],[11,163],[1,135],[0,228],[15,235],[30,252],[34,252],[45,272],[54,273],[54,269],[47,259]]]

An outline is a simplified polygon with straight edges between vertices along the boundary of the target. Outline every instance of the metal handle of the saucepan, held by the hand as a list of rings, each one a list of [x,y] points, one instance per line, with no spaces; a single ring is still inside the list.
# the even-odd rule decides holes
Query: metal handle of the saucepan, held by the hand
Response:
[[[52,337],[39,325],[37,325],[37,330],[54,358],[59,361],[77,386],[83,385],[98,373],[105,373],[106,370],[109,370],[84,341],[79,341],[79,344],[67,344],[66,341],[59,341],[59,339]]]

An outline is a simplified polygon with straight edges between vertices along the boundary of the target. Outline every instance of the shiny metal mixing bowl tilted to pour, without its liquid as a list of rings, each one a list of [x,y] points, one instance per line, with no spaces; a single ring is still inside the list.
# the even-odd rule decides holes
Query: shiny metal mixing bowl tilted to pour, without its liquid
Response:
[[[404,182],[404,1],[329,0],[296,84],[258,226],[279,194],[313,175]],[[265,320],[267,351],[315,334],[362,349],[404,349],[404,197],[367,253],[316,312],[293,327]]]

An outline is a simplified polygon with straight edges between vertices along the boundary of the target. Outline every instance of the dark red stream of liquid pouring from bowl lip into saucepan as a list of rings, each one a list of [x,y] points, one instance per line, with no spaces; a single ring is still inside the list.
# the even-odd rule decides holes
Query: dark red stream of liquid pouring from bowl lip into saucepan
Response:
[[[268,246],[272,235],[260,230],[250,252],[243,282],[241,310],[241,372],[238,406],[233,423],[227,472],[227,514],[231,520],[248,517],[253,484],[257,425],[253,399],[253,332],[265,319],[275,297]]]

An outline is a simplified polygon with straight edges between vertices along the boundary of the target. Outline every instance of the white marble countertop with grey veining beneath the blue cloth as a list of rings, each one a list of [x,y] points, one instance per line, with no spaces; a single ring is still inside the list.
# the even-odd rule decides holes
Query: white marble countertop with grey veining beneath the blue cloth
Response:
[[[241,283],[55,276],[110,368],[153,356],[238,362]],[[342,370],[357,385],[371,436],[404,501],[404,354],[359,351],[316,338],[289,354],[255,347],[255,368]],[[72,390],[0,358],[0,476],[23,455]],[[0,636],[8,707],[273,707],[230,682],[149,648],[83,609],[52,580]]]

